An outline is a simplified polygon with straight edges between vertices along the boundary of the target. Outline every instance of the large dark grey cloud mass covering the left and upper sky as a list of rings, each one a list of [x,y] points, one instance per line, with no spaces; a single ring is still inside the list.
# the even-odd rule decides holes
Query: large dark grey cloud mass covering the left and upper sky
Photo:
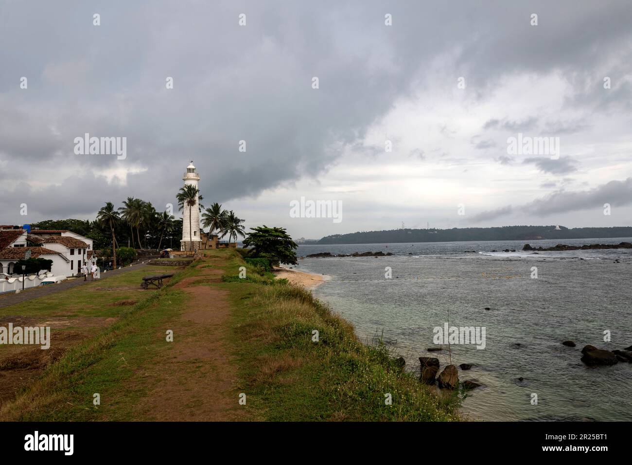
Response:
[[[92,25],[97,10],[99,27]],[[540,15],[538,27],[529,25],[532,11]],[[49,218],[94,213],[128,195],[173,202],[190,159],[203,194],[217,201],[317,177],[398,99],[418,87],[444,92],[420,76],[437,57],[454,54],[446,72],[465,76],[478,98],[507,74],[556,71],[578,84],[593,82],[576,86],[588,90],[569,104],[580,107],[586,97],[588,108],[606,111],[627,97],[629,106],[623,77],[630,11],[626,1],[574,0],[537,0],[528,8],[498,8],[494,1],[219,1],[186,8],[167,1],[4,2],[0,162],[8,164],[0,163],[0,178],[23,184],[3,185],[0,208],[14,211],[25,196],[33,214]],[[245,27],[238,26],[242,12]],[[384,25],[385,13],[392,27]],[[609,92],[599,89],[605,72],[612,75]],[[21,76],[28,77],[26,90]],[[172,90],[167,77],[174,78]],[[312,77],[319,77],[319,89],[312,89]],[[538,123],[536,116],[499,117],[483,128],[520,132]],[[449,123],[440,128],[444,137],[455,133]],[[73,139],[84,133],[127,137],[127,159],[75,156]],[[238,151],[240,140],[246,152]],[[491,144],[485,139],[475,147]],[[366,155],[377,153],[368,148]],[[554,174],[574,170],[572,161],[556,162],[529,163]],[[100,176],[132,166],[146,171],[129,174],[126,185]]]

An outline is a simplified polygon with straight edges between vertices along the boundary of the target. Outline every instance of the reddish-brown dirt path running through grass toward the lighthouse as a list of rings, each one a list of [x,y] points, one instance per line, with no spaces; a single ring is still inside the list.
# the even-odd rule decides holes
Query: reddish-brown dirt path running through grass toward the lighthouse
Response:
[[[222,271],[207,268],[174,288],[190,304],[170,324],[174,340],[154,359],[155,387],[137,406],[135,418],[158,421],[235,421],[246,419],[236,393],[236,369],[229,352],[228,292],[208,284]],[[164,331],[162,332],[164,336]],[[154,381],[152,380],[152,381]]]

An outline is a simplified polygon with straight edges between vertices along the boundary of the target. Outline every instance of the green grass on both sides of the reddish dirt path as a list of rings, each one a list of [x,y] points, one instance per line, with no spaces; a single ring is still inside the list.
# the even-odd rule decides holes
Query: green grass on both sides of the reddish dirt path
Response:
[[[179,272],[166,287],[145,294],[144,299],[131,307],[116,307],[119,316],[116,323],[102,328],[49,366],[15,400],[3,405],[0,419],[125,421],[147,418],[150,412],[139,410],[139,406],[147,406],[148,400],[150,405],[150,391],[155,387],[152,383],[164,376],[152,372],[155,362],[168,357],[167,351],[171,350],[165,342],[164,328],[169,328],[169,322],[178,318],[185,305],[185,292],[173,286],[185,278],[195,278],[201,267],[206,266],[218,268],[228,277],[221,282],[190,280],[188,285],[210,285],[228,291],[232,308],[231,351],[239,375],[235,388],[247,396],[244,407],[247,418],[270,421],[459,419],[456,392],[439,397],[432,388],[420,384],[415,375],[403,371],[386,345],[362,344],[353,327],[315,300],[310,292],[284,280],[274,280],[271,273],[244,263],[234,250],[205,251],[204,259]],[[241,267],[245,267],[247,279],[238,278]],[[94,292],[104,293],[100,301],[129,298],[106,288],[135,282],[138,276],[117,278],[121,278],[121,282],[111,278],[94,285]],[[90,313],[74,307],[88,304],[85,297],[75,292],[78,290],[60,292],[62,300],[61,294],[67,294],[66,304],[58,302],[51,307],[52,311]],[[109,312],[102,308],[96,311]],[[315,331],[317,342],[313,339]],[[202,338],[204,334],[196,337]],[[190,363],[183,366],[179,376],[195,376],[203,368],[197,362]],[[92,402],[95,393],[100,394],[99,406]],[[385,403],[387,395],[392,398],[391,405]]]

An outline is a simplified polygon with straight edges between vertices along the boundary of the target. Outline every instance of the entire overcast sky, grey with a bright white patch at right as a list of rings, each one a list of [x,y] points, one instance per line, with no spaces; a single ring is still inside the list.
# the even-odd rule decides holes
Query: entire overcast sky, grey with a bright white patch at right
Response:
[[[3,224],[164,209],[193,159],[206,204],[294,237],[632,225],[626,0],[0,0],[0,44]],[[342,221],[291,218],[301,196]]]

